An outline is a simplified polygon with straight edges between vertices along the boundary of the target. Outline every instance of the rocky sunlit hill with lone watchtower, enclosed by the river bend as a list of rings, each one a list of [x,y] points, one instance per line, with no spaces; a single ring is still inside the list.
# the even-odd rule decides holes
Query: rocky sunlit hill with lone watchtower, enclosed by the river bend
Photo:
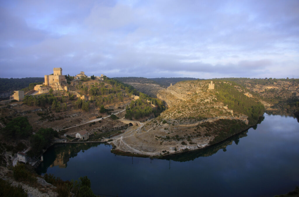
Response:
[[[117,136],[115,151],[148,156],[180,153],[218,143],[257,124],[264,106],[238,84],[181,81],[158,91],[167,110],[142,127]]]

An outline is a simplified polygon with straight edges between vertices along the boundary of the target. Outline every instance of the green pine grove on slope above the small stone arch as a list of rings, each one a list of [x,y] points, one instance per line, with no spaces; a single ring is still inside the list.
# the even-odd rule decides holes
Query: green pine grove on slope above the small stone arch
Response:
[[[149,102],[148,102],[149,101]],[[155,105],[153,108],[151,103]],[[150,116],[152,113],[155,117],[165,110],[164,104],[161,100],[156,98],[150,98],[146,94],[140,93],[140,98],[131,103],[126,108],[125,118],[132,120]]]

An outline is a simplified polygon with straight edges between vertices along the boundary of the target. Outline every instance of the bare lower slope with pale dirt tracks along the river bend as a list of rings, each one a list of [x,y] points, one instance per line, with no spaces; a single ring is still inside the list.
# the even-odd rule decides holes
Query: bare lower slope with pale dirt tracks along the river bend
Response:
[[[160,157],[199,150],[222,142],[262,121],[211,118],[192,125],[155,124],[155,120],[111,138],[112,152],[120,155]]]

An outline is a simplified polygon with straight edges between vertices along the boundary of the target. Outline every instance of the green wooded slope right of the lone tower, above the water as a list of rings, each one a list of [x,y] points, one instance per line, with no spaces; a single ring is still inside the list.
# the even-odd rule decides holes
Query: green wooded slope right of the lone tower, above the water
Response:
[[[217,101],[222,101],[224,105],[228,105],[229,109],[247,115],[250,122],[257,121],[259,116],[263,114],[265,110],[263,104],[239,92],[234,87],[237,85],[234,82],[224,83],[219,81],[217,85]]]

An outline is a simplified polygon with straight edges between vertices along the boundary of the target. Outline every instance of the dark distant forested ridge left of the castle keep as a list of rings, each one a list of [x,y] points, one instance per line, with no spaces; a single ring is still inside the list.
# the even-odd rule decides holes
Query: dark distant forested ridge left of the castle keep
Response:
[[[43,77],[26,77],[26,78],[0,78],[0,93],[7,91],[20,90],[28,87],[30,83],[40,83],[44,81]]]

